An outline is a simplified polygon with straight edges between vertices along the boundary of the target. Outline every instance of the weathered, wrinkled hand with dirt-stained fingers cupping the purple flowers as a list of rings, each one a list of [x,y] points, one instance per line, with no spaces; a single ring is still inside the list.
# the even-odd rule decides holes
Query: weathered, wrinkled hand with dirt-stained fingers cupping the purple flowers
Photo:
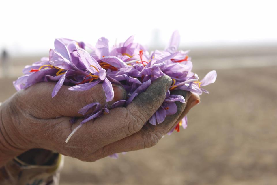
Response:
[[[93,162],[113,153],[152,147],[199,103],[199,96],[172,91],[183,95],[186,103],[175,102],[177,113],[166,116],[163,123],[145,125],[164,101],[171,83],[168,76],[156,79],[127,107],[114,108],[109,114],[85,123],[68,143],[66,138],[83,120],[79,118],[71,124],[71,117],[81,117],[78,110],[89,103],[104,105],[106,97],[101,84],[80,92],[63,86],[54,98],[51,92],[55,83],[41,82],[19,91],[0,107],[0,166],[33,148]],[[115,98],[109,104],[126,98],[123,88],[114,86],[113,89]]]

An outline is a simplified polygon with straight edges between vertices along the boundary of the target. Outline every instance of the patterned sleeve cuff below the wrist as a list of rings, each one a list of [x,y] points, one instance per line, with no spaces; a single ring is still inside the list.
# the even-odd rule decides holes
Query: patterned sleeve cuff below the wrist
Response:
[[[0,184],[57,185],[63,158],[52,151],[31,149],[0,168]]]

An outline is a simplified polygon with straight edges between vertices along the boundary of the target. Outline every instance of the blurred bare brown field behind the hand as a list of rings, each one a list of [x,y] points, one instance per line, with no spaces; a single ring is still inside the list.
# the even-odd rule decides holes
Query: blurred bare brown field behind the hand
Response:
[[[257,57],[227,58],[218,65],[216,83],[190,111],[186,130],[117,160],[65,157],[60,184],[277,184],[277,66],[228,66],[228,61],[259,64]],[[260,58],[277,64],[275,56]],[[200,78],[209,71],[203,65],[195,63]],[[0,78],[0,101],[15,92],[12,80]]]

